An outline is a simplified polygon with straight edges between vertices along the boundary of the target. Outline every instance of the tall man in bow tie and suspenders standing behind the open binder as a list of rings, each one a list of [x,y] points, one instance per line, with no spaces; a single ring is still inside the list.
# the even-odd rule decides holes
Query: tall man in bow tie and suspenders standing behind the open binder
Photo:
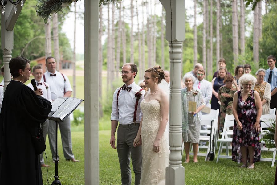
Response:
[[[56,61],[52,56],[46,58],[47,72],[43,74],[43,81],[47,82],[51,88],[51,97],[55,101],[58,97],[70,97],[72,88],[66,75],[56,71]],[[79,162],[72,152],[70,118],[63,122],[58,122],[63,145],[63,156],[67,161]],[[56,124],[49,120],[48,138],[53,162],[56,158]],[[59,155],[58,155],[59,159]]]

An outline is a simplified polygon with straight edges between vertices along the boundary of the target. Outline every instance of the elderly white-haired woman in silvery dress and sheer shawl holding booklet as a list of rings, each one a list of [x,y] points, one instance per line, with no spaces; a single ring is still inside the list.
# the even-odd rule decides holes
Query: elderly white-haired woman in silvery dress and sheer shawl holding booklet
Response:
[[[181,90],[182,97],[182,131],[185,143],[185,163],[189,162],[189,147],[193,145],[193,162],[197,162],[198,143],[201,128],[201,110],[205,107],[204,99],[199,89],[194,89],[195,77],[192,74],[184,76],[186,88]],[[196,102],[196,110],[189,112],[189,102]]]

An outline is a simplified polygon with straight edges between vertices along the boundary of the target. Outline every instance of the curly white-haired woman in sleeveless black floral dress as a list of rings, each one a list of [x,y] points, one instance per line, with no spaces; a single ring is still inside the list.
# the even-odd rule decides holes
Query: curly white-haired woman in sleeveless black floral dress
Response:
[[[254,168],[254,162],[260,161],[262,101],[257,91],[251,90],[256,82],[254,76],[244,74],[239,79],[242,90],[235,92],[233,114],[235,117],[232,145],[232,160],[243,162],[243,167]],[[248,151],[247,151],[248,150]],[[249,164],[248,164],[249,162]]]

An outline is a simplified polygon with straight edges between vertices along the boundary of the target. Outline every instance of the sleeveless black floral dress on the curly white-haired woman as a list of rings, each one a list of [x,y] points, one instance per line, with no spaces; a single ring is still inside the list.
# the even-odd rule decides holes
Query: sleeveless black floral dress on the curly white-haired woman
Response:
[[[242,130],[237,129],[236,121],[234,121],[232,160],[243,162],[240,152],[242,146],[254,147],[254,162],[260,161],[261,143],[259,142],[260,132],[256,132],[254,123],[257,117],[257,108],[254,102],[254,90],[251,90],[246,101],[242,100],[241,91],[238,91],[238,120],[242,124]],[[261,126],[261,121],[260,121]],[[249,161],[249,156],[248,156]]]

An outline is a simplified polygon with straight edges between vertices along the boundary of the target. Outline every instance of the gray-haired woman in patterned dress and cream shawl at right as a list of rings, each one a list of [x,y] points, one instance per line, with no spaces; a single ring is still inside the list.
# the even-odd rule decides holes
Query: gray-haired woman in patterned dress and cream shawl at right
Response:
[[[264,81],[265,70],[259,69],[256,72],[256,76],[257,76],[257,82],[255,83],[254,91],[257,91],[259,93],[259,96],[262,100],[262,105],[263,105],[262,115],[269,114],[271,93],[270,93],[270,84]]]

